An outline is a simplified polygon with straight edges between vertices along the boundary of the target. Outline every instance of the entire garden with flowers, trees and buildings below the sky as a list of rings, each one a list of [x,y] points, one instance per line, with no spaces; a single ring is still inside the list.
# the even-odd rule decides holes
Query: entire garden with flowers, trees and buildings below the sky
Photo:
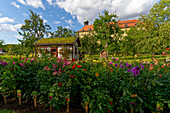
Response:
[[[138,20],[105,10],[76,32],[29,12],[20,43],[0,40],[0,113],[168,113],[169,1]]]

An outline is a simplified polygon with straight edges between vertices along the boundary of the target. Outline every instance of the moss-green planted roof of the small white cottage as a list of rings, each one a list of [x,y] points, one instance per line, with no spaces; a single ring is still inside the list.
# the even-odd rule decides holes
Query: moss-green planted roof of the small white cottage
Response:
[[[73,45],[78,41],[80,46],[80,40],[78,37],[56,37],[56,38],[42,38],[35,42],[35,45]]]

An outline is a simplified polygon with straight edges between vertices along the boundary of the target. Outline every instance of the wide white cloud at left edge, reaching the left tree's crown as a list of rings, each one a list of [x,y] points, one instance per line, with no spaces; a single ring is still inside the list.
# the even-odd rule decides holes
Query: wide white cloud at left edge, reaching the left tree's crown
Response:
[[[21,28],[22,24],[0,24],[0,31],[15,31],[17,32],[17,29]]]

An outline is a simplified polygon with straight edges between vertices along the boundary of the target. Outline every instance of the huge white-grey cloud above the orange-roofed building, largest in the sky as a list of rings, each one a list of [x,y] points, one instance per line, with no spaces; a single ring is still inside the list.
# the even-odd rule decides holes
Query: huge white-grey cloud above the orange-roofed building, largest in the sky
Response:
[[[92,23],[104,10],[116,11],[120,19],[137,18],[149,12],[154,3],[159,0],[56,0],[56,4],[83,24],[87,19]]]

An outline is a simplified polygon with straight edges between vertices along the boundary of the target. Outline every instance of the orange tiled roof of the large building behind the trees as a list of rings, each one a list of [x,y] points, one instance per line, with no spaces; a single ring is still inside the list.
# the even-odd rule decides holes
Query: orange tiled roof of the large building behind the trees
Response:
[[[138,22],[138,20],[136,20],[136,19],[134,19],[134,20],[119,21],[118,22],[118,26],[120,28],[130,28],[130,27],[136,26],[137,22]],[[113,22],[111,22],[111,23],[113,23]],[[82,27],[77,32],[84,32],[84,31],[90,31],[90,30],[94,30],[93,25],[85,25],[84,27]]]

